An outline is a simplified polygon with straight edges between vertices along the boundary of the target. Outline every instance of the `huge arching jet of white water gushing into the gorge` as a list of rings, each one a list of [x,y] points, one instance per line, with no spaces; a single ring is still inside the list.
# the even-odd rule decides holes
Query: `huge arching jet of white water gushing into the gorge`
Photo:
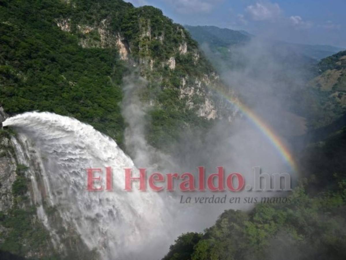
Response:
[[[150,259],[151,249],[160,246],[155,242],[166,241],[162,245],[167,246],[163,220],[168,213],[162,198],[150,190],[124,191],[124,168],[134,168],[134,164],[111,138],[76,119],[52,113],[21,114],[8,118],[3,126],[15,128],[25,143],[21,146],[12,140],[20,163],[39,165],[40,172],[31,172],[30,178],[44,223],[42,195],[57,207],[63,225],[76,230],[103,259]],[[28,153],[34,153],[37,161],[26,159]],[[101,168],[104,179],[109,166],[113,191],[87,191],[86,169]]]

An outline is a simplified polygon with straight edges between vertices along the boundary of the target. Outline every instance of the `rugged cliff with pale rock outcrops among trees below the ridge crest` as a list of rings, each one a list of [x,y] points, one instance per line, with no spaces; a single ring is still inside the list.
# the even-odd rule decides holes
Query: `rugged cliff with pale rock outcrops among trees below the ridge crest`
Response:
[[[174,24],[156,8],[134,8],[115,2],[123,8],[123,14],[110,12],[94,17],[93,21],[59,17],[56,24],[63,31],[78,35],[83,48],[117,48],[120,59],[138,67],[149,86],[178,89],[186,108],[195,109],[199,117],[228,118],[234,112],[214,92],[221,88],[230,96],[234,93],[223,86],[197,43],[181,25]],[[82,5],[77,0],[66,3],[74,8]],[[151,98],[146,100],[147,104],[162,105],[153,95],[148,96]]]

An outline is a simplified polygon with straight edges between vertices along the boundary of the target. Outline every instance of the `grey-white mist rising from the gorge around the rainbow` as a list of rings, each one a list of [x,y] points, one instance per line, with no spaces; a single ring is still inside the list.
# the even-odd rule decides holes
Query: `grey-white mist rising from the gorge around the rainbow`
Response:
[[[222,64],[221,78],[227,86],[266,124],[275,129],[282,143],[292,149],[289,138],[306,131],[305,119],[290,111],[292,93],[302,88],[306,81],[307,72],[302,70],[303,63],[294,64],[297,59],[290,57],[289,50],[273,51],[272,46],[261,39],[253,39],[244,46],[230,47],[233,64],[226,64],[224,60],[215,57],[207,45],[203,45],[203,50],[214,63]],[[246,183],[253,185],[253,167],[261,167],[262,172],[269,174],[289,173],[294,185],[297,173],[284,160],[270,138],[242,113],[238,113],[231,122],[226,119],[215,120],[208,132],[194,128],[183,131],[178,142],[165,147],[165,153],[152,147],[146,140],[146,127],[150,122],[148,111],[153,106],[140,99],[147,81],[134,70],[123,82],[122,115],[127,123],[125,150],[137,168],[146,168],[148,174],[157,171],[163,174],[191,172],[196,176],[197,167],[204,166],[208,176],[217,172],[216,167],[222,166],[226,175],[239,172],[245,177]],[[165,220],[165,232],[171,238],[170,243],[173,243],[175,237],[184,232],[202,232],[204,228],[213,225],[224,210],[249,210],[254,207],[252,203],[181,204],[181,196],[221,197],[227,194],[228,197],[240,197],[243,200],[245,197],[285,197],[290,193],[243,190],[236,194],[230,191],[163,191],[159,194],[171,216],[171,219]],[[162,257],[160,252],[157,254],[159,257]]]

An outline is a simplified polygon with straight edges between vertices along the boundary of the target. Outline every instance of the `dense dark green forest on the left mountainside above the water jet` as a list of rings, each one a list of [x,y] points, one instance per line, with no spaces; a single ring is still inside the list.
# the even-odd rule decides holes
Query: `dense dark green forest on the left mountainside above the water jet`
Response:
[[[73,116],[122,142],[116,50],[83,49],[54,18],[59,1],[7,1],[0,8],[0,103],[7,113]]]

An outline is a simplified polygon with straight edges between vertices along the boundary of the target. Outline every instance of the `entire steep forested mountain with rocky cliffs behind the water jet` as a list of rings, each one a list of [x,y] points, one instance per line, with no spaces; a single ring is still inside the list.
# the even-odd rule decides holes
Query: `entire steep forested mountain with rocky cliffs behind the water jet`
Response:
[[[120,85],[134,67],[147,80],[140,96],[151,105],[149,141],[156,147],[181,127],[232,113],[213,94],[228,89],[197,43],[159,9],[121,0],[3,0],[1,12],[1,77],[8,84],[0,102],[9,114],[71,115],[121,144]],[[91,101],[98,95],[102,102]]]

